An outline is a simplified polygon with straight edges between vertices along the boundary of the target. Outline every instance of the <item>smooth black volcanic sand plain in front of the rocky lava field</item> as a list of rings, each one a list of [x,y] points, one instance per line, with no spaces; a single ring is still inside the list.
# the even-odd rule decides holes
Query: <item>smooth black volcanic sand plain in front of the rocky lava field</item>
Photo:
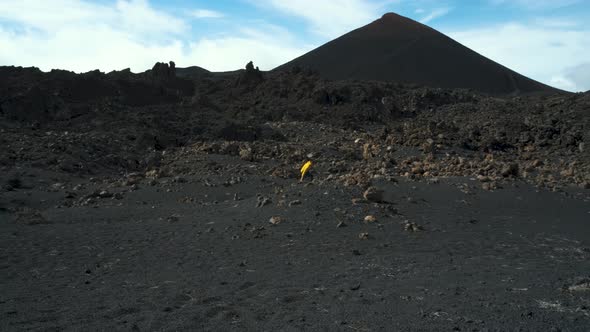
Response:
[[[237,158],[190,161],[234,171],[133,191],[73,180],[78,197],[122,198],[72,208],[59,207],[63,189],[3,195],[4,208],[42,211],[43,222],[2,213],[1,329],[590,328],[587,192],[400,179],[376,183],[393,204],[352,204],[356,188],[269,180]],[[252,174],[222,185],[241,170]],[[272,203],[256,207],[257,194]],[[369,214],[377,221],[364,223]]]

